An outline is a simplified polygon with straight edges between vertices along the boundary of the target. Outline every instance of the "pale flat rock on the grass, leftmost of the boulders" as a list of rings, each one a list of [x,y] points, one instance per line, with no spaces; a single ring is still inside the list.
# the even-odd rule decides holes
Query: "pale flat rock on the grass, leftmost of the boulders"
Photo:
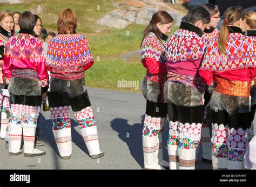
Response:
[[[99,19],[97,23],[116,29],[124,29],[126,26],[131,24],[131,22],[121,18],[113,17],[112,15],[104,16],[103,18]]]

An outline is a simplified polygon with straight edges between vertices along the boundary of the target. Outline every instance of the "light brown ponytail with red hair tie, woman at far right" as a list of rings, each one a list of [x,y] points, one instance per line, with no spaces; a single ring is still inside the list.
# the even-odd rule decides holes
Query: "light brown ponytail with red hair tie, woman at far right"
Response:
[[[220,54],[224,54],[226,52],[226,42],[228,36],[227,25],[233,25],[234,22],[237,22],[240,18],[245,19],[245,12],[241,6],[231,6],[228,8],[223,15],[224,22],[220,27],[220,35],[219,35],[219,52]]]

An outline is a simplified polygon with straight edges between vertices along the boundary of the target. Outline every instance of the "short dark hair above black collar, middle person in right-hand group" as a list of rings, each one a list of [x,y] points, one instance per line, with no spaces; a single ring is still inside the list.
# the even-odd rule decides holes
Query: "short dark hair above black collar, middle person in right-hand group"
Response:
[[[190,24],[195,24],[199,20],[202,20],[203,24],[211,22],[210,13],[202,6],[194,6],[184,18],[185,22]]]

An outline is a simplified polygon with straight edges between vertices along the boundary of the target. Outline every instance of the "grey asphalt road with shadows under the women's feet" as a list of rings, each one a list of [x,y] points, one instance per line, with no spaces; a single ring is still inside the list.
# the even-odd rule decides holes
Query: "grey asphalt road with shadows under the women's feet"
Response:
[[[40,157],[25,158],[23,154],[9,156],[4,141],[0,140],[0,169],[142,169],[142,129],[146,100],[142,94],[88,88],[92,110],[96,117],[100,149],[105,156],[92,160],[86,149],[76,118],[71,110],[72,156],[70,160],[59,157],[51,130],[50,111],[39,117],[43,147]],[[163,131],[164,160],[168,161],[167,137],[169,127]],[[201,161],[199,147],[196,169],[212,169],[212,164]]]

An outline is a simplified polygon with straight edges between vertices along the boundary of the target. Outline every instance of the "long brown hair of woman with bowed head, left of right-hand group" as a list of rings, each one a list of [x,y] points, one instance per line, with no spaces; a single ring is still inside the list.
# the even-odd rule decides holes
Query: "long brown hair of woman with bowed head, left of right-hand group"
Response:
[[[142,43],[143,43],[144,38],[150,32],[153,32],[154,34],[156,34],[156,37],[161,41],[164,37],[164,34],[159,31],[159,29],[157,27],[157,23],[164,25],[164,24],[169,24],[172,22],[173,22],[172,16],[169,13],[167,13],[166,11],[158,11],[158,12],[154,13],[151,18],[150,24],[147,25],[146,29],[143,31]],[[142,43],[140,45],[142,45]]]

